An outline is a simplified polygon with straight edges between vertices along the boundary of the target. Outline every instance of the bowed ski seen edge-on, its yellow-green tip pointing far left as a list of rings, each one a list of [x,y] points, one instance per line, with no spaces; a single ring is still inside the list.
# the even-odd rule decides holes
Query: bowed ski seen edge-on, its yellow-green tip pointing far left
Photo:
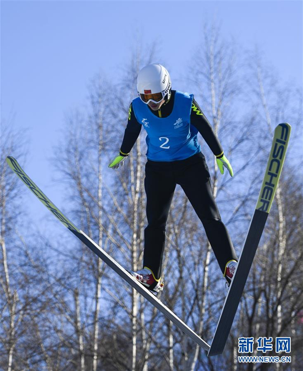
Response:
[[[56,218],[67,227],[75,236],[77,236],[87,247],[89,247],[100,259],[108,264],[120,277],[129,283],[135,290],[144,296],[151,304],[159,309],[174,325],[189,336],[196,344],[205,350],[209,350],[210,346],[207,342],[201,339],[194,331],[190,329],[179,317],[164,305],[154,294],[151,294],[144,286],[137,282],[120,264],[113,259],[106,251],[100,248],[93,240],[91,240],[83,231],[79,230],[54,203],[45,196],[45,194],[36,186],[36,184],[25,174],[14,157],[8,156],[7,163],[10,168],[18,175],[18,177],[27,185],[34,195],[52,211]]]

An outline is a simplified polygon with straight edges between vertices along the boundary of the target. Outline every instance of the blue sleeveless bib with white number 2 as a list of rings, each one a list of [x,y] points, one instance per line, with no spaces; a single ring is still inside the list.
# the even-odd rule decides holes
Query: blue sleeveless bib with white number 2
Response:
[[[138,97],[132,101],[135,117],[146,130],[146,156],[151,161],[185,160],[201,148],[197,129],[190,125],[193,94],[176,91],[172,113],[159,118]]]

